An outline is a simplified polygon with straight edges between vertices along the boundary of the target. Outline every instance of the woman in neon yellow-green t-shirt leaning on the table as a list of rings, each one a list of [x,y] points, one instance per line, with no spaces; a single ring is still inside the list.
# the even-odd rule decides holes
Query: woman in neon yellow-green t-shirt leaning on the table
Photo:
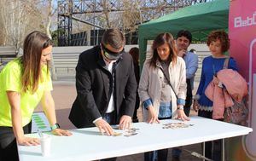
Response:
[[[19,160],[16,142],[22,146],[40,144],[31,133],[32,113],[41,102],[55,135],[72,135],[60,129],[55,117],[55,103],[49,60],[52,43],[41,32],[26,36],[23,55],[10,61],[0,72],[0,160]]]

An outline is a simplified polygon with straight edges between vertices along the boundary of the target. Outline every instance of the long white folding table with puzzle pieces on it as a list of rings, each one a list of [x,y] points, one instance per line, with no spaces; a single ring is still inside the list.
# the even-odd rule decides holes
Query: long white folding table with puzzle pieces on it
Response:
[[[180,147],[205,141],[213,141],[239,135],[247,135],[253,129],[224,122],[192,117],[185,124],[188,128],[163,129],[163,124],[179,120],[162,120],[160,124],[137,123],[137,135],[126,137],[101,135],[97,128],[72,129],[72,136],[52,135],[51,154],[41,155],[41,147],[18,146],[20,161],[40,160],[96,160],[148,152],[158,149]],[[123,132],[122,130],[115,130]],[[38,137],[38,134],[29,136]]]

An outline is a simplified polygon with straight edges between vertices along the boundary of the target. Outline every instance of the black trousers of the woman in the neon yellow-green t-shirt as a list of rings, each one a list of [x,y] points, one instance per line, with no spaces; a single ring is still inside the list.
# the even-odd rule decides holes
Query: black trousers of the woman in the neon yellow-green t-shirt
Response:
[[[32,122],[23,127],[24,134],[31,133]],[[18,147],[12,127],[0,127],[0,161],[19,160]]]

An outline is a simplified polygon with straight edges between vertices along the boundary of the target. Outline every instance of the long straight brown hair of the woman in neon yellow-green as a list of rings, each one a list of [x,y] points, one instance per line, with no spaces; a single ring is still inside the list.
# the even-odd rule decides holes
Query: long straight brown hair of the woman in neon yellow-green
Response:
[[[35,93],[41,76],[41,55],[42,50],[51,46],[49,37],[42,32],[31,32],[25,38],[23,44],[23,55],[20,60],[22,63],[22,89]],[[49,72],[49,62],[47,62]]]

